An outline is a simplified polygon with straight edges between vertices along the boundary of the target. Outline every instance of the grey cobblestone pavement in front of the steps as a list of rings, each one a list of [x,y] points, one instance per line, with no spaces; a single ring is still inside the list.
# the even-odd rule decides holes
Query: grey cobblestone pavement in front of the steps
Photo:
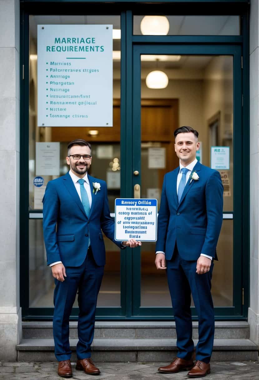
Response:
[[[189,379],[187,372],[177,374],[160,374],[157,368],[168,363],[95,363],[101,370],[101,375],[85,375],[73,367],[73,379],[89,380],[182,380]],[[0,380],[38,380],[62,379],[57,375],[57,363],[53,362],[0,362]],[[233,379],[259,380],[259,362],[212,362],[211,373],[206,380]]]

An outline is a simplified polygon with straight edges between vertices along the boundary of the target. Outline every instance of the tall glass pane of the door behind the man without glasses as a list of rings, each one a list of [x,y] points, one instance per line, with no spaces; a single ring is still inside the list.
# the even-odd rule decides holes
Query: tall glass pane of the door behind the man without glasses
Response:
[[[143,57],[143,56],[142,56]],[[199,160],[210,166],[210,147],[230,147],[230,169],[224,180],[224,211],[233,211],[233,59],[231,56],[164,56],[156,62],[141,57],[141,196],[158,199],[163,177],[179,162],[174,130],[190,125],[202,142]],[[163,58],[162,58],[163,57]],[[165,89],[149,89],[147,74],[162,70],[169,77]],[[156,150],[154,150],[156,149]],[[152,157],[155,157],[152,160]],[[215,306],[233,303],[233,221],[224,220],[218,242],[219,262],[213,271]],[[166,274],[155,268],[155,244],[141,247],[141,306],[171,306]]]

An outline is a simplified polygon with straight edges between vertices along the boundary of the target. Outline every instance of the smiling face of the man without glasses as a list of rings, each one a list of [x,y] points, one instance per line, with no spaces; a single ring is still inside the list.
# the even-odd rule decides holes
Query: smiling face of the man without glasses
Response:
[[[183,166],[189,165],[196,158],[200,143],[193,132],[178,133],[175,138],[174,150]]]

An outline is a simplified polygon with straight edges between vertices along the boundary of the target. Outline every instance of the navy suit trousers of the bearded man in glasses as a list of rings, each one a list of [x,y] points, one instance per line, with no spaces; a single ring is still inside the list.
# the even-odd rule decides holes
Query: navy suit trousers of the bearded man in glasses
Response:
[[[66,267],[65,281],[55,279],[53,335],[58,361],[71,357],[69,347],[69,316],[78,290],[78,359],[90,358],[95,328],[97,296],[101,287],[104,266],[97,266],[91,248],[79,267]]]

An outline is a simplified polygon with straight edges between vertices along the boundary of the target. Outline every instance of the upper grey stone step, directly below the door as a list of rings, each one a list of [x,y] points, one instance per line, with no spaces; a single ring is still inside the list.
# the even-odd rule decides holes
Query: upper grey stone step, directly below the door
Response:
[[[70,322],[70,338],[77,339],[77,322]],[[215,339],[249,339],[246,321],[216,321]],[[23,322],[24,339],[52,339],[52,322]],[[98,321],[95,338],[145,339],[176,338],[175,322],[165,321]],[[198,322],[193,322],[193,338],[198,339]]]

